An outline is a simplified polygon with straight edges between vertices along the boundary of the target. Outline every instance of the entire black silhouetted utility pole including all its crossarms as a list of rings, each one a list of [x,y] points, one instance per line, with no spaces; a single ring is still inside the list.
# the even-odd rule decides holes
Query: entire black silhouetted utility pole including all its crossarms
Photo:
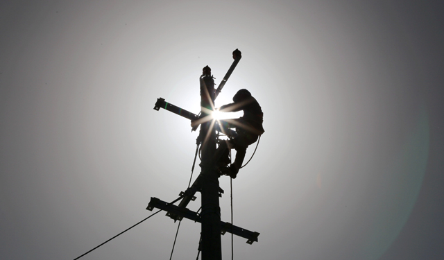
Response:
[[[165,102],[163,98],[157,98],[155,103],[155,110],[164,108],[180,116],[191,120],[192,122],[199,122],[200,133],[196,143],[202,144],[202,156],[200,163],[201,172],[196,178],[194,184],[185,192],[180,193],[180,204],[178,206],[171,203],[164,202],[158,198],[151,198],[146,209],[153,210],[154,208],[163,209],[167,211],[167,216],[173,220],[182,220],[182,218],[189,218],[201,223],[201,244],[202,260],[221,260],[221,234],[231,232],[237,236],[248,239],[247,243],[252,244],[257,241],[259,233],[251,232],[247,229],[234,226],[230,223],[221,221],[221,208],[219,207],[219,196],[223,193],[219,187],[219,173],[216,169],[216,162],[214,160],[214,153],[216,152],[216,130],[214,128],[214,120],[205,120],[211,116],[214,110],[214,99],[221,92],[226,81],[230,77],[232,71],[241,59],[241,52],[236,49],[233,52],[234,62],[228,72],[225,74],[221,84],[217,89],[214,89],[214,78],[211,75],[210,67],[203,68],[203,74],[200,76],[200,106],[202,107],[201,115],[198,116],[187,110],[183,110],[176,105]],[[196,130],[198,124],[194,125],[193,130]],[[187,209],[187,205],[191,200],[194,200],[194,194],[200,191],[202,194],[202,211],[200,214]]]

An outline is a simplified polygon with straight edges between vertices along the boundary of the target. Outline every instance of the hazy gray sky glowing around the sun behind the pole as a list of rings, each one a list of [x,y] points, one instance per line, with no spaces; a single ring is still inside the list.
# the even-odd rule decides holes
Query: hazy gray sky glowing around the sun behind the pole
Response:
[[[187,188],[198,113],[249,89],[264,110],[233,181],[235,259],[444,259],[440,1],[1,1],[0,256],[74,259]],[[247,159],[254,146],[247,152]],[[197,176],[199,168],[196,168]],[[221,177],[222,220],[230,180]],[[200,194],[189,208],[200,207]],[[157,214],[83,259],[168,259]],[[182,221],[173,259],[195,259]],[[230,257],[230,234],[222,237]]]

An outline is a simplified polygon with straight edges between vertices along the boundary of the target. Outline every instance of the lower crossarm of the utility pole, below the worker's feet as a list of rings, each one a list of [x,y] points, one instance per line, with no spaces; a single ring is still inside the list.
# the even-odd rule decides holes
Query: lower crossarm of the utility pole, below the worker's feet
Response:
[[[164,202],[158,198],[151,197],[151,200],[148,203],[148,207],[146,207],[146,209],[152,211],[154,208],[167,211],[167,216],[171,214],[176,214],[178,215],[178,220],[182,220],[182,218],[188,218],[189,220],[194,220],[194,222],[201,223],[200,214],[197,214],[196,212],[191,211],[187,208],[178,207],[176,205],[169,204],[168,202]],[[259,233],[257,232],[251,232],[250,230],[231,225],[228,222],[221,221],[221,234],[225,234],[225,232],[229,232],[234,235],[243,237],[244,239],[247,239],[247,243],[250,245],[253,244],[253,242],[257,242],[257,237],[259,236]]]

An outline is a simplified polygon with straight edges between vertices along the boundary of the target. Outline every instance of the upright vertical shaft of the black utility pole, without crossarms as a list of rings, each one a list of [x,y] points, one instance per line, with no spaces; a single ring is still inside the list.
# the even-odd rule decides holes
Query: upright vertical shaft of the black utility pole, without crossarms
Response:
[[[214,107],[214,80],[207,75],[200,78],[200,96],[202,107],[212,110]],[[207,110],[205,110],[207,111]],[[207,114],[203,112],[203,115]],[[214,164],[216,152],[216,132],[212,121],[200,126],[202,144],[202,260],[221,260],[221,208],[219,207],[219,175]]]

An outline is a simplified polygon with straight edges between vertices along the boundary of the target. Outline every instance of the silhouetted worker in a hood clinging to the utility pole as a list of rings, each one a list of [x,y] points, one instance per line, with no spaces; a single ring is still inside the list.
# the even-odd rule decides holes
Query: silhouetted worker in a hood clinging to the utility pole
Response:
[[[218,130],[225,132],[231,138],[229,141],[223,141],[219,145],[215,159],[218,160],[219,166],[226,166],[230,163],[228,157],[230,150],[228,148],[236,150],[236,159],[234,159],[234,163],[230,168],[221,168],[221,173],[230,175],[234,179],[242,166],[242,162],[244,162],[248,146],[257,141],[259,135],[262,135],[265,131],[262,127],[262,122],[264,121],[262,108],[247,89],[239,90],[233,96],[233,102],[219,107],[219,111],[237,112],[243,110],[244,116],[241,116],[239,119],[220,121]],[[236,132],[228,128],[236,128]]]

